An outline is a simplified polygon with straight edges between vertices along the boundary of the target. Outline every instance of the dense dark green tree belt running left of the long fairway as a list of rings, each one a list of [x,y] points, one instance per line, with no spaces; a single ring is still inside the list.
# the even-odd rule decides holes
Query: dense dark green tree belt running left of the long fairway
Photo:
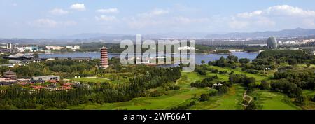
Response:
[[[126,102],[145,95],[149,88],[156,88],[181,77],[179,67],[152,67],[146,75],[130,79],[130,83],[110,85],[99,83],[85,85],[73,90],[49,91],[27,90],[10,86],[0,92],[0,109],[65,109],[86,103]]]

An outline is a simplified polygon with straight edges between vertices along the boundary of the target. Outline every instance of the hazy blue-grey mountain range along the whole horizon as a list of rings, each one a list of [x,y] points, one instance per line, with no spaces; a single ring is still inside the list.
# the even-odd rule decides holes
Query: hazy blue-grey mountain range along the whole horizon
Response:
[[[266,39],[269,36],[277,38],[292,38],[301,36],[315,36],[315,29],[283,29],[281,31],[267,32],[235,32],[228,34],[209,34],[209,33],[157,33],[144,34],[142,39]],[[103,33],[84,33],[71,36],[59,36],[53,39],[0,39],[0,43],[21,43],[21,44],[64,44],[64,43],[118,43],[124,39],[135,39],[135,34],[103,34]]]

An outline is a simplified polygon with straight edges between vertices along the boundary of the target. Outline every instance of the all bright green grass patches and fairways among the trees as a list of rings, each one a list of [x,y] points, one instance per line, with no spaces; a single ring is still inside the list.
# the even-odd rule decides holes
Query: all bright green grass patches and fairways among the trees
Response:
[[[260,74],[249,74],[241,71],[240,68],[230,69],[209,66],[213,69],[218,69],[219,71],[234,71],[235,74],[246,74],[248,77],[256,78],[256,83],[260,83],[262,80],[269,80],[268,76],[263,76]],[[211,88],[191,88],[190,83],[195,81],[201,81],[208,76],[217,75],[219,80],[228,81],[228,74],[214,74],[207,72],[207,76],[201,76],[195,72],[183,73],[181,78],[176,81],[176,85],[181,87],[180,90],[170,90],[165,91],[165,95],[160,97],[138,97],[132,99],[128,102],[116,102],[116,103],[106,103],[106,104],[81,104],[79,106],[69,106],[68,109],[97,109],[97,110],[113,110],[113,109],[128,109],[128,110],[160,110],[160,109],[172,109],[176,106],[181,106],[189,104],[195,97],[199,97],[202,93],[209,93]],[[94,82],[94,83],[122,83],[124,81],[111,81],[106,78],[74,78],[74,81],[81,82]],[[235,84],[229,89],[228,93],[225,95],[218,95],[210,97],[207,102],[197,102],[194,106],[190,107],[193,110],[242,110],[244,106],[241,105],[243,101],[243,94],[245,92],[244,87]],[[154,88],[151,90],[163,90],[162,87]],[[150,91],[150,90],[149,90]],[[304,90],[306,95],[315,95],[314,91]],[[258,109],[262,110],[297,110],[302,109],[291,102],[291,99],[286,95],[278,92],[269,92],[266,90],[256,90],[250,94],[251,97],[255,97],[257,100],[255,103],[258,105]],[[304,108],[314,108],[315,104],[312,102],[310,106],[304,106]]]

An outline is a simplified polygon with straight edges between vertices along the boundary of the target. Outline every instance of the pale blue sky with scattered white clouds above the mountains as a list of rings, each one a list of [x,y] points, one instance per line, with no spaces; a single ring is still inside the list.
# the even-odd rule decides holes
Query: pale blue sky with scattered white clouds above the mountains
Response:
[[[315,29],[312,0],[0,0],[0,38]]]

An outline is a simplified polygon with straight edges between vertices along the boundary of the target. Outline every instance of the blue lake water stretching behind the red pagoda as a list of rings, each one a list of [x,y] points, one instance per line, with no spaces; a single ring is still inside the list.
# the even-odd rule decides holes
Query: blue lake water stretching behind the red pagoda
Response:
[[[248,58],[253,60],[257,57],[258,53],[246,53],[246,52],[232,52],[232,55],[235,55],[240,58]],[[119,53],[109,53],[109,58],[119,57]],[[202,60],[205,62],[214,61],[220,59],[220,57],[228,57],[228,55],[218,55],[218,54],[209,54],[209,55],[195,55],[196,63],[200,64]],[[39,58],[52,58],[52,57],[91,57],[92,59],[99,59],[101,53],[99,52],[85,52],[85,53],[55,53],[55,54],[39,54]]]

